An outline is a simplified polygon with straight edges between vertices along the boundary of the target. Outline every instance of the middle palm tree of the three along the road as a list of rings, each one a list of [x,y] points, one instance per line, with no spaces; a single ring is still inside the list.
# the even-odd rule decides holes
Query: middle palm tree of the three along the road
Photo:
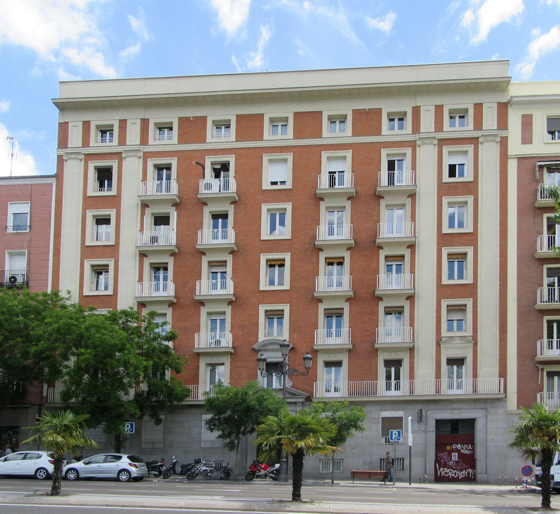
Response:
[[[284,406],[276,416],[268,416],[256,428],[255,445],[260,447],[259,458],[264,461],[276,459],[280,446],[284,445],[286,455],[292,455],[292,501],[301,501],[304,456],[340,451],[328,444],[336,433],[337,427],[320,414],[308,409],[291,414]]]

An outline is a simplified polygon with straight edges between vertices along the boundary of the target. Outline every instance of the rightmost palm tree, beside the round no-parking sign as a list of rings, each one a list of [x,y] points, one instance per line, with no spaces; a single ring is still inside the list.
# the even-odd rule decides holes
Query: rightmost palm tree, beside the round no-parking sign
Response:
[[[513,434],[514,440],[510,448],[521,450],[526,461],[542,461],[541,476],[541,507],[550,508],[550,468],[554,454],[560,451],[560,411],[549,412],[542,403],[534,403],[529,410],[520,407],[524,414],[519,417],[519,423],[513,424],[508,432]]]

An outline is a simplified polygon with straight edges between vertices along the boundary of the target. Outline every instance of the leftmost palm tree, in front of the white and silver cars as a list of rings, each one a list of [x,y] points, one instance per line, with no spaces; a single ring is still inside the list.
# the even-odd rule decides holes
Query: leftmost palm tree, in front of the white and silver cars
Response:
[[[64,454],[72,452],[77,455],[81,448],[96,448],[97,443],[86,437],[83,431],[84,421],[90,417],[89,414],[74,414],[71,410],[58,410],[55,413],[44,410],[43,412],[44,414],[37,418],[34,427],[26,427],[31,429],[32,436],[24,443],[36,441],[53,453],[54,475],[50,496],[58,496]]]

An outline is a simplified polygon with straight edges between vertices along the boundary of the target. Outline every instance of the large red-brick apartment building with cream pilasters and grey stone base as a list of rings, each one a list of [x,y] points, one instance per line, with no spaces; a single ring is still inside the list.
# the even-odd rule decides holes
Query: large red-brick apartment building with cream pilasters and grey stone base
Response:
[[[386,450],[397,479],[516,470],[509,84],[507,61],[62,82],[53,287],[157,311],[189,358],[192,397],[160,426],[137,420],[130,451],[229,459],[203,394],[280,388],[256,358],[272,371],[287,340],[291,366],[313,357],[287,384],[292,409],[365,406],[340,476]]]

